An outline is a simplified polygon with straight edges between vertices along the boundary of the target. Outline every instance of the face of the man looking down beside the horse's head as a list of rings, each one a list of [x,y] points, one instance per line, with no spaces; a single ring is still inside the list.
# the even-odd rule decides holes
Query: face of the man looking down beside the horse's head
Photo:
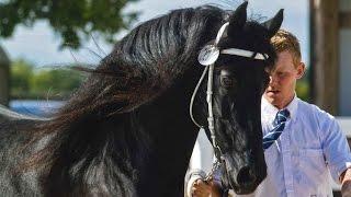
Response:
[[[284,108],[294,97],[296,80],[304,74],[304,63],[294,66],[293,56],[290,51],[278,54],[278,60],[270,72],[270,83],[263,96],[278,108]]]

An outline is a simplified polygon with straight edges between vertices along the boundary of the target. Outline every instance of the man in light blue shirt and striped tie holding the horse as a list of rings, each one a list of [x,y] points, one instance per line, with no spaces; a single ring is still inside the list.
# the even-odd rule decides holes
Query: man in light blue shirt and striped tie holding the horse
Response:
[[[332,196],[329,172],[342,184],[342,195],[351,196],[351,154],[344,135],[331,115],[295,94],[296,80],[305,72],[297,38],[281,30],[271,43],[278,60],[269,71],[261,104],[268,176],[247,196]],[[279,123],[278,116],[283,120]],[[276,124],[281,130],[274,128]],[[219,196],[220,185],[190,174],[188,195]]]

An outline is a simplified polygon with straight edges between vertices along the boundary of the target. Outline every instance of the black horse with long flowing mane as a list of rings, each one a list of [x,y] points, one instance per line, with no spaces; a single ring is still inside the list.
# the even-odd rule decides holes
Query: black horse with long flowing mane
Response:
[[[0,109],[1,196],[182,196],[197,136],[189,115],[204,69],[197,56],[226,22],[217,47],[253,56],[220,54],[215,62],[216,143],[231,187],[254,190],[265,177],[260,101],[282,12],[260,24],[247,21],[246,7],[181,9],[140,24],[87,69],[88,80],[52,118]],[[201,125],[206,80],[193,108]]]

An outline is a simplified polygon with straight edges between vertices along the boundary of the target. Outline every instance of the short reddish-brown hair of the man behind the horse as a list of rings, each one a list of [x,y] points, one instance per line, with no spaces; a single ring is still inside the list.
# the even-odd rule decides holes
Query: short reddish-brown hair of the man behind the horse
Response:
[[[276,53],[290,51],[293,56],[293,62],[297,66],[301,62],[299,43],[296,36],[285,30],[279,30],[271,38],[271,43]]]

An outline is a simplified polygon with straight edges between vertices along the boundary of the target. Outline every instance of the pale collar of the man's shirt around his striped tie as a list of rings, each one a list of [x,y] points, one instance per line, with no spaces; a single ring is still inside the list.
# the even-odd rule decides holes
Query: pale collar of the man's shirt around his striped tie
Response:
[[[290,102],[290,104],[285,107],[288,109],[290,117],[292,120],[295,120],[295,118],[296,118],[297,103],[298,103],[298,97],[296,96],[296,93],[295,93],[293,101]],[[264,96],[262,96],[261,111],[262,111],[262,115],[275,116],[275,114],[278,113],[279,109],[275,106],[273,106],[271,103],[269,103],[264,99]]]

